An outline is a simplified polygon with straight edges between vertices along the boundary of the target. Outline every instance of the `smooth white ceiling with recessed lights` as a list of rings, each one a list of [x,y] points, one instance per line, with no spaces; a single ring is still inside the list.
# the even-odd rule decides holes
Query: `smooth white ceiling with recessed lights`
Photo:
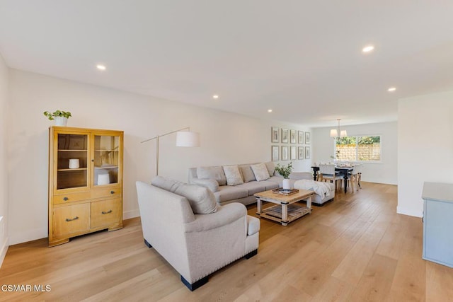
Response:
[[[399,98],[453,89],[453,1],[0,0],[0,53],[14,69],[264,119],[386,122]]]

